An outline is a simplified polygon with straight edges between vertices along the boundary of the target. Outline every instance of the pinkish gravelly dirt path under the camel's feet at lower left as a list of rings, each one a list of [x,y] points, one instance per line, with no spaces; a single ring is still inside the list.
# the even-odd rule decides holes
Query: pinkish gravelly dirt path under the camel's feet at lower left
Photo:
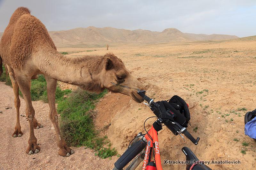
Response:
[[[42,101],[34,101],[36,119],[44,128],[35,129],[37,142],[41,151],[38,154],[27,155],[29,129],[26,116],[20,116],[22,137],[12,137],[15,127],[16,110],[14,107],[13,91],[10,86],[0,82],[0,169],[112,169],[112,160],[100,159],[94,152],[84,147],[71,147],[75,154],[68,158],[58,155],[55,131],[48,118],[49,106]],[[20,115],[25,115],[25,101],[21,100]],[[12,107],[5,109],[5,107]]]

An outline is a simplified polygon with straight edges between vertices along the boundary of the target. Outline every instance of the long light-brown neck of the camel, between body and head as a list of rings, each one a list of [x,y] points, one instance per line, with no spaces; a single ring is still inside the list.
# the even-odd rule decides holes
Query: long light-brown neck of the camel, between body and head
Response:
[[[44,55],[39,57],[39,70],[54,79],[83,87],[100,86],[98,74],[101,70],[102,56],[72,58],[57,51],[49,50],[45,53],[44,50]]]

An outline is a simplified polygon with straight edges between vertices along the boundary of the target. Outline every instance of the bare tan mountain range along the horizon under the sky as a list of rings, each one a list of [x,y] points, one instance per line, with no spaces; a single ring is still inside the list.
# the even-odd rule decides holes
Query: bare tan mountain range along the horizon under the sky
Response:
[[[176,28],[162,32],[148,30],[126,30],[112,27],[75,28],[66,31],[49,31],[56,46],[106,43],[143,43],[156,44],[168,42],[215,41],[239,38],[235,35],[182,33]],[[0,33],[0,37],[3,33]]]

